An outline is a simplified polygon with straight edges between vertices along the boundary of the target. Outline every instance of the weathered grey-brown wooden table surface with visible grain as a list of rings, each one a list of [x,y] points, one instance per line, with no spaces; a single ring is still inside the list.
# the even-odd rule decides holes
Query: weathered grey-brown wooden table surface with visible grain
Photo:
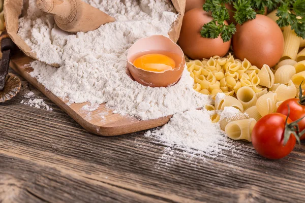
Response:
[[[30,90],[54,110],[20,104]],[[0,104],[0,202],[304,202],[305,143],[277,161],[244,142],[203,160],[143,133],[88,133],[23,80]]]

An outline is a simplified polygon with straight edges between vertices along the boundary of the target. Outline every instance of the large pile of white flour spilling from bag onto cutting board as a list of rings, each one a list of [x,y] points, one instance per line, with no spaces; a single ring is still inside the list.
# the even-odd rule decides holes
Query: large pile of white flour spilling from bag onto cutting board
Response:
[[[56,69],[34,61],[31,75],[70,103],[107,103],[120,114],[154,119],[203,107],[211,100],[193,90],[187,70],[167,88],[145,87],[126,74],[128,49],[151,35],[168,37],[177,14],[169,0],[83,0],[116,21],[87,33],[69,35],[59,30],[52,15],[29,0],[27,16],[20,18],[18,35],[41,61],[58,63]]]

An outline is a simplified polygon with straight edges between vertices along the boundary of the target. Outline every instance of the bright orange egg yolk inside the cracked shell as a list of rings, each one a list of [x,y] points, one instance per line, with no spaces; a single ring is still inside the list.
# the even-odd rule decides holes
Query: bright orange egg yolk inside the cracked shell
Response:
[[[133,62],[138,69],[145,71],[163,72],[175,68],[175,61],[163,54],[145,54]]]

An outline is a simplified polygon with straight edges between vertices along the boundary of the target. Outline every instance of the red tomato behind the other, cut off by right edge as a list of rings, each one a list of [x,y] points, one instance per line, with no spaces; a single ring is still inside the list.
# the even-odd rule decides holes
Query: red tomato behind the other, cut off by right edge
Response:
[[[298,98],[290,98],[285,100],[278,108],[277,112],[280,114],[288,115],[288,108],[287,106],[289,105],[290,108],[290,113],[289,113],[289,118],[292,121],[296,121],[297,119],[300,119],[305,116],[305,105],[300,104],[300,100]],[[305,129],[305,118],[303,118],[301,121],[298,123],[300,131]],[[305,139],[305,134],[300,137],[300,140]]]

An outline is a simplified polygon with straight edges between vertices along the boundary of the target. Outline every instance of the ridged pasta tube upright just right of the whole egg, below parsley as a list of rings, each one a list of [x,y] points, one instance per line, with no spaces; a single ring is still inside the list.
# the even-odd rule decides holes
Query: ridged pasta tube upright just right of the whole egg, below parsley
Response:
[[[301,38],[297,37],[291,26],[284,27],[284,53],[281,60],[296,59],[297,52],[300,47]]]

